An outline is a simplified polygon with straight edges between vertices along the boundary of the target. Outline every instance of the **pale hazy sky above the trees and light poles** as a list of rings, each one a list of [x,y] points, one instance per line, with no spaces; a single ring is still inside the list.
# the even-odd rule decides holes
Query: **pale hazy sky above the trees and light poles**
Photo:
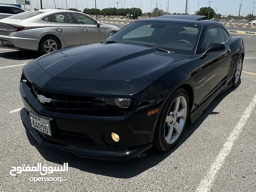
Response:
[[[103,2],[103,8],[111,7],[117,7],[115,1],[117,0],[96,0],[96,6],[99,9],[102,9],[102,2]],[[162,10],[166,11],[166,2],[168,0],[120,0],[118,3],[118,8],[121,8],[121,1],[122,1],[122,8],[131,8],[133,7],[139,7],[142,8],[142,12],[150,12],[151,10],[151,1],[152,1],[152,9],[156,7],[156,3],[158,3],[158,8],[161,7]],[[124,2],[125,1],[125,2]],[[241,3],[241,0],[210,0],[210,6],[216,10],[217,13],[220,13],[222,15],[238,15],[239,12],[239,4]],[[246,16],[249,13],[252,13],[252,8],[256,0],[242,0],[242,6],[240,15]],[[77,2],[77,8],[79,10],[83,10],[84,8],[95,8],[95,0],[67,0],[68,8],[76,8],[76,2]],[[16,3],[16,0],[0,0],[0,3]],[[49,8],[54,6],[54,0],[42,0],[43,6],[47,7],[47,3]],[[58,4],[59,8],[66,8],[66,0],[55,0],[56,6]],[[192,12],[195,12],[198,10],[198,3],[199,7],[202,6],[209,6],[208,0],[188,0],[188,13],[192,14]],[[37,4],[40,6],[40,0],[31,0],[32,8],[36,8]],[[160,5],[161,4],[161,5]],[[26,6],[27,9],[30,9],[30,6]],[[82,9],[81,9],[82,8]],[[169,12],[170,13],[184,13],[186,9],[186,0],[169,0]],[[256,15],[256,5],[254,7],[254,14]]]

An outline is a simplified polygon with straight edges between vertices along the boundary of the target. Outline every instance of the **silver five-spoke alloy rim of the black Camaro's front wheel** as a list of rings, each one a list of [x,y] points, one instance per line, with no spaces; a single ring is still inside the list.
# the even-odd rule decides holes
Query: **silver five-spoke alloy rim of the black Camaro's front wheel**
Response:
[[[187,116],[187,102],[184,96],[179,96],[172,103],[166,117],[165,140],[173,144],[180,136]]]

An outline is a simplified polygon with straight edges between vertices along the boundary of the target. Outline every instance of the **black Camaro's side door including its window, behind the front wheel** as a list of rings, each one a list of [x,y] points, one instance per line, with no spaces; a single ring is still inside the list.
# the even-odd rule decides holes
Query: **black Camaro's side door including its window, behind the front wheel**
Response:
[[[232,58],[230,47],[226,43],[221,27],[212,27],[207,30],[203,52],[211,43],[224,44],[226,49],[222,52],[212,52],[204,57],[206,70],[204,88],[206,96],[212,93],[227,78]]]

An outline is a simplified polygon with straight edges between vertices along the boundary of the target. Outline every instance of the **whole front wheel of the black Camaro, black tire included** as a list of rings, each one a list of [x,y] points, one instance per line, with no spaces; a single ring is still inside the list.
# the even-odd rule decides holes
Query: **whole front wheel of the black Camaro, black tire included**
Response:
[[[185,106],[184,104],[186,103],[186,108],[183,107],[184,112],[186,112],[185,117],[177,118],[178,113],[176,113],[174,110],[177,98],[180,98],[180,105],[179,105],[180,108],[178,108],[179,109],[178,112],[181,109],[181,104],[182,104],[182,106]],[[172,113],[171,111],[174,113]],[[167,100],[167,102],[158,118],[156,130],[154,133],[154,139],[153,139],[154,148],[156,148],[157,150],[161,150],[161,151],[171,150],[172,147],[176,145],[176,143],[178,142],[178,140],[180,140],[180,137],[182,136],[183,130],[187,124],[188,114],[189,114],[188,93],[183,88],[179,88],[179,89],[175,90],[174,93]],[[169,116],[169,118],[167,118],[167,116]],[[177,128],[175,128],[175,127],[177,127],[178,121],[179,121],[179,124],[182,123],[180,120],[183,121],[183,126],[180,129],[181,131],[180,131],[179,135],[177,136],[177,131],[176,131]],[[168,122],[166,122],[166,121],[168,121]],[[174,121],[176,123],[174,123]],[[168,137],[168,135],[171,135],[170,130],[173,130],[172,136]],[[168,142],[168,140],[169,140],[169,142]]]

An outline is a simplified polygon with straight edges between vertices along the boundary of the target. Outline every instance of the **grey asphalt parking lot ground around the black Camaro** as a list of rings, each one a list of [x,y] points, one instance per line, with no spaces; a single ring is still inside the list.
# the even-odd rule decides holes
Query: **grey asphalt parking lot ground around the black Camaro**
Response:
[[[234,35],[246,46],[240,86],[220,94],[171,152],[149,150],[126,162],[79,158],[41,146],[26,134],[19,82],[24,64],[39,55],[0,49],[0,191],[255,191],[256,35]],[[62,182],[30,181],[41,176],[38,172],[10,175],[11,166],[37,163],[68,163],[69,168],[51,175]]]

